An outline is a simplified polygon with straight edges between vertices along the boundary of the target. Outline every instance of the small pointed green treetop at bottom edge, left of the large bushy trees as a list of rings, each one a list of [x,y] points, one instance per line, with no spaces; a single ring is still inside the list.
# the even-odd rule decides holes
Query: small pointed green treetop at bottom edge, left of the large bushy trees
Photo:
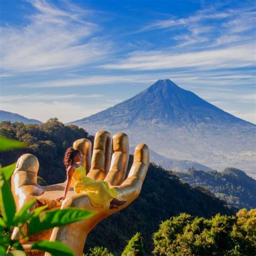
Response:
[[[137,232],[133,235],[131,240],[128,242],[122,256],[137,256],[137,255],[146,255],[143,248],[143,238],[142,234]]]

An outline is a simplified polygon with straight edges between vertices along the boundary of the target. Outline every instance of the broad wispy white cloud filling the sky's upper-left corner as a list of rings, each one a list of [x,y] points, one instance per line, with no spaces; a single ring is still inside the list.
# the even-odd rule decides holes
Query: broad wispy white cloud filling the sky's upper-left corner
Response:
[[[1,28],[0,62],[4,71],[29,72],[95,63],[107,55],[110,43],[96,37],[99,26],[87,20],[90,10],[50,1],[28,1],[36,12],[28,24]]]

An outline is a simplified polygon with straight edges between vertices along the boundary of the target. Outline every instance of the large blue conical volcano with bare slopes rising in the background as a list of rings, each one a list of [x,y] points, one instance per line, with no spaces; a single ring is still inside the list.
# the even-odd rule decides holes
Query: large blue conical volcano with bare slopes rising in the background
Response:
[[[145,142],[171,159],[188,159],[221,170],[235,166],[256,170],[256,125],[207,103],[171,80],[109,109],[73,122],[90,133],[124,131],[131,144]]]

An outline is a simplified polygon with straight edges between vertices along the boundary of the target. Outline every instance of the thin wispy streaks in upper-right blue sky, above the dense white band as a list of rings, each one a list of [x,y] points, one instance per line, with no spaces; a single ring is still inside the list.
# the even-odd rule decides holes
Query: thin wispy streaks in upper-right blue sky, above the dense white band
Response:
[[[255,6],[247,4],[237,6],[236,9],[213,4],[210,9],[201,9],[191,16],[153,21],[135,33],[164,30],[176,41],[177,48],[190,45],[194,49],[200,49],[242,41],[255,42],[254,9]]]

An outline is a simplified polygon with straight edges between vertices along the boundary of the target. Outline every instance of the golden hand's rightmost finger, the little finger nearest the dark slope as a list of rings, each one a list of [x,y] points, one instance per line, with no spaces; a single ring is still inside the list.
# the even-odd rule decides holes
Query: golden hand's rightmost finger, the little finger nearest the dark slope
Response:
[[[138,144],[134,151],[133,164],[127,178],[120,186],[115,186],[118,198],[126,200],[129,204],[138,197],[149,169],[149,162],[149,147],[144,143]]]

